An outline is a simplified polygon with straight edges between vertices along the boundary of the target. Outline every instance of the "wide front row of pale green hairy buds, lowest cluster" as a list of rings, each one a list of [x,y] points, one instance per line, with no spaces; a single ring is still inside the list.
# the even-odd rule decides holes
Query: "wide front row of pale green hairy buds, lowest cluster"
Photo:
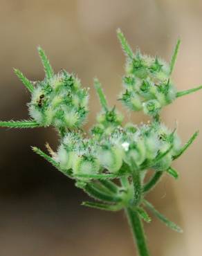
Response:
[[[62,170],[72,170],[73,177],[75,174],[118,173],[124,163],[131,165],[131,161],[137,170],[149,167],[163,171],[170,167],[173,156],[180,150],[176,132],[154,122],[140,127],[116,127],[110,135],[99,133],[92,138],[70,133],[62,139],[55,160]]]

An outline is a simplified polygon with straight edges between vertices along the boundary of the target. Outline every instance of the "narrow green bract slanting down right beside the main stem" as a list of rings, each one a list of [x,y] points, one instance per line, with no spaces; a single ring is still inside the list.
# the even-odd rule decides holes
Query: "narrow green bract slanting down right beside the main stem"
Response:
[[[154,208],[154,206],[152,205],[152,203],[149,203],[148,201],[144,200],[143,203],[147,206],[147,208],[149,210],[151,210],[151,212],[153,212],[153,214],[160,219],[160,221],[162,221],[163,223],[165,223],[165,225],[169,228],[171,228],[172,230],[175,230],[176,232],[183,232],[183,230],[177,226],[174,222],[169,221],[169,219],[167,219],[165,216],[163,216],[163,214],[161,214],[160,212],[158,212],[158,210],[156,210]]]

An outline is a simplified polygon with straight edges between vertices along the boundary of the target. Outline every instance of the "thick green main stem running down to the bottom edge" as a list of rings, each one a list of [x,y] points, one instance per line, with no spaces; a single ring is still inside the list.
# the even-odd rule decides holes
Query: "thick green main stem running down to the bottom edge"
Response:
[[[134,242],[137,246],[139,256],[149,256],[143,223],[138,212],[134,212],[131,208],[125,208],[125,213],[134,236]]]

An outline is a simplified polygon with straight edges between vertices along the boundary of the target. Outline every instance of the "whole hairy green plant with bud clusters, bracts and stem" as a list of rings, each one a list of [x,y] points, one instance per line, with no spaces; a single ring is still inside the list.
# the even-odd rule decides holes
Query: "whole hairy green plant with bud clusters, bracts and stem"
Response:
[[[160,120],[161,109],[199,89],[177,91],[171,75],[176,62],[177,42],[169,64],[159,57],[150,57],[137,50],[134,53],[124,35],[118,30],[118,39],[127,57],[123,91],[118,100],[129,111],[143,111],[151,117],[144,125],[122,125],[122,115],[115,107],[109,107],[98,79],[94,80],[102,110],[97,122],[88,134],[82,130],[89,112],[89,89],[83,89],[73,73],[53,68],[42,50],[38,48],[44,65],[44,80],[32,82],[21,71],[15,73],[31,93],[28,103],[30,120],[0,122],[1,127],[34,128],[53,126],[59,133],[59,147],[48,154],[33,150],[53,164],[60,172],[75,180],[75,185],[95,201],[82,203],[91,208],[118,211],[125,210],[140,256],[149,255],[142,221],[151,221],[146,210],[151,211],[169,228],[181,232],[149,203],[145,196],[154,188],[163,174],[178,178],[172,167],[189,147],[198,132],[181,145],[176,129],[167,128]],[[145,181],[151,171],[152,177]]]

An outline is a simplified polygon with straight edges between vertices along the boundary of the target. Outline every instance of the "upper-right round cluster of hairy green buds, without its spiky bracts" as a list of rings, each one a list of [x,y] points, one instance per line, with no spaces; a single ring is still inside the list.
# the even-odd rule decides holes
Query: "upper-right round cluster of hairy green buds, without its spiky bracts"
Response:
[[[127,58],[125,70],[125,91],[120,100],[130,110],[143,110],[149,116],[156,116],[176,98],[176,89],[169,79],[169,65],[160,58],[142,55],[138,50],[134,57]]]

